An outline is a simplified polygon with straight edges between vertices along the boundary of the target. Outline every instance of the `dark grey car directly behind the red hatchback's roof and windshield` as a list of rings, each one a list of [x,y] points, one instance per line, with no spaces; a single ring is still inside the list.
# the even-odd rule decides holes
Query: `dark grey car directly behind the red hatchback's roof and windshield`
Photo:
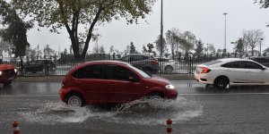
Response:
[[[158,72],[158,61],[149,54],[128,54],[119,61],[130,63],[148,74]]]

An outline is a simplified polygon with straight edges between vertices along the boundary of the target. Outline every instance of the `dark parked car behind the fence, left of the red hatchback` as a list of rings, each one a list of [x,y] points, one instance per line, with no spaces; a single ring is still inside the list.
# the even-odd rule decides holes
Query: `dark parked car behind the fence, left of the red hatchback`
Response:
[[[56,64],[48,59],[40,59],[37,61],[31,61],[29,63],[23,64],[24,72],[33,72],[36,73],[38,71],[56,71]]]

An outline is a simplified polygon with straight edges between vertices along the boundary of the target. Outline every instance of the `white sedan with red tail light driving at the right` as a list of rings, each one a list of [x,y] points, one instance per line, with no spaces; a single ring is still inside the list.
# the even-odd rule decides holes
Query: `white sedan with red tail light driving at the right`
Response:
[[[229,88],[233,85],[269,85],[269,69],[248,59],[220,59],[197,65],[195,80],[217,88]]]

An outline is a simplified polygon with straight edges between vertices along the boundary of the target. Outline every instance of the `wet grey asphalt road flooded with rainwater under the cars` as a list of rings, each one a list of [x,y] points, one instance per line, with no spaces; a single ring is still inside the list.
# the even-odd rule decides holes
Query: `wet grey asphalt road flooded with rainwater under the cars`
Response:
[[[13,82],[0,85],[0,133],[269,133],[269,87],[219,90],[196,81],[172,81],[177,100],[142,99],[108,111],[87,105],[69,107],[58,96],[60,82]],[[146,105],[144,105],[146,104]]]

